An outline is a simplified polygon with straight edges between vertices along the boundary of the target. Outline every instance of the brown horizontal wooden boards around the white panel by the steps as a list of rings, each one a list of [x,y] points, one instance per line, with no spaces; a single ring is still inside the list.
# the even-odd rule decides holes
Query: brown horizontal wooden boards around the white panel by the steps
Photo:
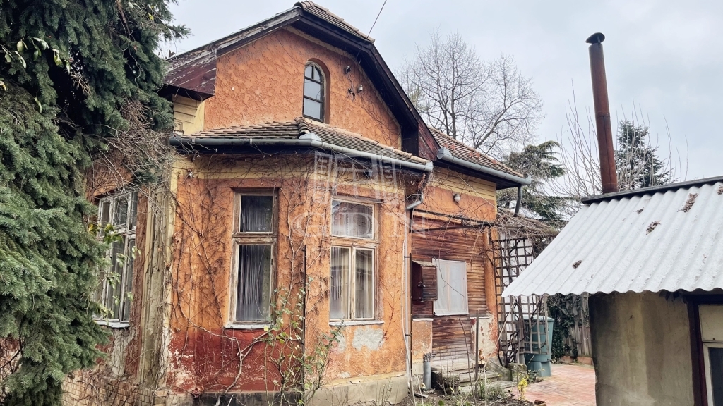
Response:
[[[415,318],[432,318],[432,350],[438,356],[466,357],[474,353],[471,342],[470,316],[476,311],[487,314],[487,298],[484,293],[484,262],[487,249],[486,228],[461,228],[455,230],[423,231],[432,228],[452,228],[459,223],[414,216],[411,258],[418,261],[446,259],[467,263],[467,297],[469,315],[435,316],[432,301],[413,301]]]

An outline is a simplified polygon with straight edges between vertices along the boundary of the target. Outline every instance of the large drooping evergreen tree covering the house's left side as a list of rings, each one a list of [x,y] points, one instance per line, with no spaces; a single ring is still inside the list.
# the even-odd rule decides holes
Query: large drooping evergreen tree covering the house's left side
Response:
[[[64,376],[93,366],[106,334],[91,300],[103,246],[83,171],[142,103],[158,97],[168,0],[4,0],[0,12],[0,403],[58,405]],[[20,350],[17,350],[19,346]]]

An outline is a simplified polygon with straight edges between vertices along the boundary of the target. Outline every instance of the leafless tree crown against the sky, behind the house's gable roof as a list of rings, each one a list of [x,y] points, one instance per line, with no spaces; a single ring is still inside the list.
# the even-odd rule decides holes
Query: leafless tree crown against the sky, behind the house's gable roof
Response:
[[[535,138],[542,99],[513,57],[485,62],[457,33],[430,37],[399,75],[427,124],[500,159]]]

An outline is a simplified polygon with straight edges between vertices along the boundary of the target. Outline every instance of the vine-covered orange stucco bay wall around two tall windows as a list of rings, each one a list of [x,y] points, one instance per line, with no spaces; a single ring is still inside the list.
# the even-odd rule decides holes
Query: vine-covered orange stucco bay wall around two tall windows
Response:
[[[328,174],[315,173],[314,159],[279,157],[259,163],[197,158],[187,163],[193,177],[187,176],[187,170],[179,171],[171,268],[171,387],[191,393],[218,391],[232,384],[235,390],[265,390],[268,382],[278,379],[275,357],[269,355],[278,347],[270,350],[263,342],[254,343],[263,329],[226,328],[235,292],[229,285],[235,271],[231,265],[234,191],[243,189],[272,188],[278,196],[272,275],[277,289],[288,287],[292,293],[287,307],[295,306],[302,286],[305,255],[310,281],[305,309],[307,351],[322,334],[336,328],[329,321],[330,247],[340,241],[330,236],[331,199],[346,196],[375,205],[376,320],[341,329],[339,341],[330,350],[325,379],[404,371],[404,188],[383,176],[366,178],[354,168],[330,179]],[[250,350],[236,381],[239,350],[246,348]]]

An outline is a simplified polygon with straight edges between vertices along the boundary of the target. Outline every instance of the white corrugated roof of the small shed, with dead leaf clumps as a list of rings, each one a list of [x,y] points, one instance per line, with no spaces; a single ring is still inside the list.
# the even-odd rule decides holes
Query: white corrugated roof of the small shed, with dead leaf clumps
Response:
[[[594,201],[502,295],[723,288],[723,177]]]

